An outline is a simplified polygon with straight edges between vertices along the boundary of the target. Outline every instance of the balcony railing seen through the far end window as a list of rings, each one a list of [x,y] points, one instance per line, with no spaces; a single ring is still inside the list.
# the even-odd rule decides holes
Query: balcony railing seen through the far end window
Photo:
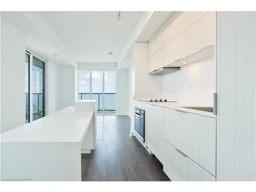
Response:
[[[116,93],[104,93],[104,110],[103,110],[103,93],[92,93],[92,99],[96,99],[96,110],[98,113],[115,113],[116,112]],[[91,99],[90,93],[79,93],[79,100]]]

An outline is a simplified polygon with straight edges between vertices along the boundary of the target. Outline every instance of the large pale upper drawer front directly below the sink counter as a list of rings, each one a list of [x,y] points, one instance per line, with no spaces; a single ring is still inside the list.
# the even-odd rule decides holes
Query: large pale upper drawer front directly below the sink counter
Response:
[[[164,108],[163,138],[216,175],[215,118]]]

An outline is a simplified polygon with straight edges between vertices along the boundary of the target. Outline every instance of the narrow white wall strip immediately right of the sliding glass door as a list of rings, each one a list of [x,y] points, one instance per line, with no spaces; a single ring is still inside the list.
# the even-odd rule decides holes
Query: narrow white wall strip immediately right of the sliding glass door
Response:
[[[59,110],[60,67],[51,60],[46,66],[46,115]]]

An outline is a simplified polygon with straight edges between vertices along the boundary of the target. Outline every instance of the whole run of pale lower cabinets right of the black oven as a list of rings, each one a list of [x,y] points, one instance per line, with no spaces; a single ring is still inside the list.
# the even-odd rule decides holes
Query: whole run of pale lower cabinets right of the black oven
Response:
[[[216,119],[145,104],[145,144],[172,181],[216,181]]]

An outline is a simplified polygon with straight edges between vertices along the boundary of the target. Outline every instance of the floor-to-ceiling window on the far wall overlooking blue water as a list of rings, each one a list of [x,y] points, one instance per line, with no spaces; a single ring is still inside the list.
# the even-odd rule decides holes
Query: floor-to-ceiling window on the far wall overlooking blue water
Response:
[[[78,71],[78,100],[96,99],[98,113],[116,112],[116,71]]]

